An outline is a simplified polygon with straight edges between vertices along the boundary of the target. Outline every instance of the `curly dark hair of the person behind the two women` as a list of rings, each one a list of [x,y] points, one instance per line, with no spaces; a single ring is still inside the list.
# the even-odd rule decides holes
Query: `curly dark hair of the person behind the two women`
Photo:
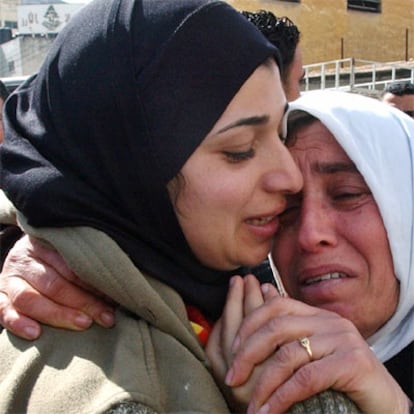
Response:
[[[298,27],[288,17],[276,17],[267,10],[242,11],[241,13],[266,36],[269,42],[279,49],[283,67],[288,68],[293,61],[299,43],[300,31]]]

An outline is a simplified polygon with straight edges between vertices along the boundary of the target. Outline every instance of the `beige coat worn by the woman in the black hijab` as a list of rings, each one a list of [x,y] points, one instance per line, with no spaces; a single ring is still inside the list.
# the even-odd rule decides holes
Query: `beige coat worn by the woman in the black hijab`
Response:
[[[113,329],[43,326],[34,342],[4,331],[1,413],[100,413],[122,401],[159,413],[228,412],[175,291],[141,273],[100,231],[23,227],[122,306]]]

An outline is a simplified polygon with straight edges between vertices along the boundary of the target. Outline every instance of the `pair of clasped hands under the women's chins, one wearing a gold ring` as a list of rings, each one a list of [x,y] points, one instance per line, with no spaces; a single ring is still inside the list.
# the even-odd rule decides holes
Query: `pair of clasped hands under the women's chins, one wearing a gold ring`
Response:
[[[309,339],[311,352],[300,338]],[[409,412],[408,398],[349,320],[281,298],[251,275],[232,279],[207,354],[237,411],[284,413],[334,389],[363,413]]]

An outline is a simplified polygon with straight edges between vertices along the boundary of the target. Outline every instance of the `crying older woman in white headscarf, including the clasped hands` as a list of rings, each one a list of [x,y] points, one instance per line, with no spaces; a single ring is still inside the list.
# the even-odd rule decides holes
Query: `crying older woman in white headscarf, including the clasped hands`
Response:
[[[213,368],[249,413],[284,412],[330,387],[363,413],[409,413],[414,122],[331,91],[303,95],[287,118],[304,186],[287,196],[272,256],[289,297],[235,278],[207,347]]]

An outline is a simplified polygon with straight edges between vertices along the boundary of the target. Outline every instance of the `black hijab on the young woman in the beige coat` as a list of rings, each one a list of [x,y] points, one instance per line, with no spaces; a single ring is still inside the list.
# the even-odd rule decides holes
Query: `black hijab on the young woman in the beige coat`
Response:
[[[275,55],[224,2],[95,0],[10,97],[1,186],[29,224],[106,232],[216,318],[229,274],[194,257],[166,184]]]

